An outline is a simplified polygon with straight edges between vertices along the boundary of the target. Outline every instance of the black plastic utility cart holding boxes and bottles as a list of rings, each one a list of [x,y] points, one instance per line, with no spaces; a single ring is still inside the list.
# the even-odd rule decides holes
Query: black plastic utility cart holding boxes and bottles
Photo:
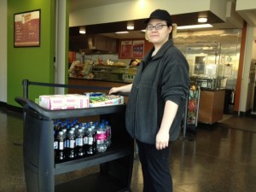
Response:
[[[129,192],[134,142],[125,131],[125,105],[47,110],[16,97],[24,110],[24,172],[27,192]],[[54,120],[99,115],[112,125],[112,147],[102,154],[55,163]],[[100,172],[67,183],[55,184],[55,175],[100,165]]]

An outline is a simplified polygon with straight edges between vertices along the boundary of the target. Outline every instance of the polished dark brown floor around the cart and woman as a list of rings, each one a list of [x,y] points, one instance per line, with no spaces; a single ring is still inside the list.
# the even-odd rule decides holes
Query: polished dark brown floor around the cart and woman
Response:
[[[0,107],[0,191],[26,192],[22,157],[22,113]],[[55,183],[98,167],[55,177]],[[172,143],[174,192],[256,191],[256,117],[224,114],[212,125],[199,123]],[[86,190],[84,190],[86,191]],[[141,166],[134,157],[131,191],[143,191]]]

